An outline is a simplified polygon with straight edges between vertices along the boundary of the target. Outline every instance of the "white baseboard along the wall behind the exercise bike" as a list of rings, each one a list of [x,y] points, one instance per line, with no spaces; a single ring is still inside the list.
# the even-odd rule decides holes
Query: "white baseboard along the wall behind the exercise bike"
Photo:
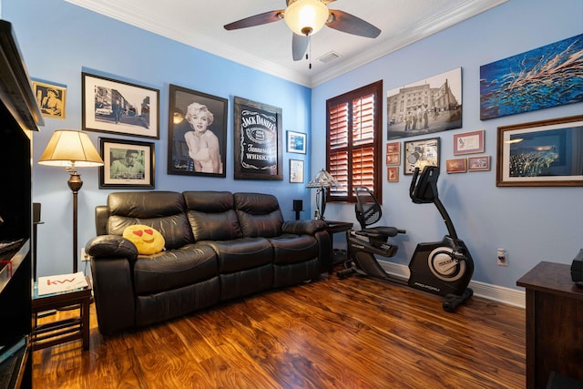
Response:
[[[388,261],[379,261],[379,263],[387,273],[400,279],[409,279],[410,272],[407,266]],[[519,308],[526,307],[526,293],[524,291],[517,291],[516,289],[506,288],[505,286],[478,281],[470,282],[469,287],[474,291],[474,295],[478,297],[493,300],[495,302],[502,302]]]

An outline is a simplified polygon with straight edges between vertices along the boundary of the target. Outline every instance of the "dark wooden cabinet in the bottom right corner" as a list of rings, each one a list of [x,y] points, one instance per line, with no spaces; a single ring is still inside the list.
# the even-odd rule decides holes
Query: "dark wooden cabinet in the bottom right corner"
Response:
[[[552,371],[583,381],[583,289],[570,266],[540,262],[517,285],[527,289],[527,388],[547,387]]]

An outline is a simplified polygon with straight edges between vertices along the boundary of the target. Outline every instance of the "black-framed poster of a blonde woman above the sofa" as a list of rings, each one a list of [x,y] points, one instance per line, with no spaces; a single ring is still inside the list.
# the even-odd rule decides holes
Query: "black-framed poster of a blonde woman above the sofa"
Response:
[[[168,174],[226,177],[229,101],[170,84]]]

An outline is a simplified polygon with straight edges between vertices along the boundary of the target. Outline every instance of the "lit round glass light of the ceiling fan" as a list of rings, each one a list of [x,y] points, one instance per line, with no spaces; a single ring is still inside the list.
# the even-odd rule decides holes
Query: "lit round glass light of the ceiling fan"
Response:
[[[328,20],[328,7],[319,0],[296,0],[285,10],[285,23],[295,34],[311,36]]]

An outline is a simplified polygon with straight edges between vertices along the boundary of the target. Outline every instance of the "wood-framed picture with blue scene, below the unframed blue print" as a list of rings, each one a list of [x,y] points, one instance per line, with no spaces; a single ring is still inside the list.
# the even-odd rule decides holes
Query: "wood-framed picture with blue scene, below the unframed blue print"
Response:
[[[496,186],[583,186],[583,115],[498,127]]]

